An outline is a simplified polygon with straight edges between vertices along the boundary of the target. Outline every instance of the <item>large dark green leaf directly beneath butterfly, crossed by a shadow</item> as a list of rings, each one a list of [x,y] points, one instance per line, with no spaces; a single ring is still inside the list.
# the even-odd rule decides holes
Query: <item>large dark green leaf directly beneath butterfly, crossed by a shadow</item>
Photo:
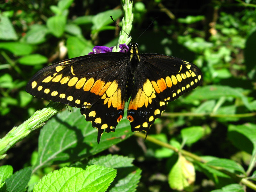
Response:
[[[97,143],[97,129],[86,122],[80,109],[70,108],[58,113],[41,129],[38,141],[38,159],[34,169],[55,163],[76,161],[92,156],[130,137],[131,126],[123,119],[115,133],[104,133]]]

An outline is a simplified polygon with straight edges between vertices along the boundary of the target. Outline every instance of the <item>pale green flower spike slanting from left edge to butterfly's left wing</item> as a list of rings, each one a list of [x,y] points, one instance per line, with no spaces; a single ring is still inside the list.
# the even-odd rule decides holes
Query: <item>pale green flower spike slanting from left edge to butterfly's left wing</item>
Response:
[[[13,127],[2,139],[0,139],[0,159],[6,156],[6,152],[17,142],[25,138],[30,132],[43,126],[45,121],[50,119],[66,105],[50,102],[42,110],[36,111],[27,121],[18,127]]]

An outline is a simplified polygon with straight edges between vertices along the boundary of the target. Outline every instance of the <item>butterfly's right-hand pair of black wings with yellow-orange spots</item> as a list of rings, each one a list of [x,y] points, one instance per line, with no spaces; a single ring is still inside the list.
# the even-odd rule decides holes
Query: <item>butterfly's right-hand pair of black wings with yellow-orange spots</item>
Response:
[[[161,54],[141,54],[127,112],[132,132],[145,131],[147,135],[167,102],[196,88],[202,77],[200,69],[187,61]]]

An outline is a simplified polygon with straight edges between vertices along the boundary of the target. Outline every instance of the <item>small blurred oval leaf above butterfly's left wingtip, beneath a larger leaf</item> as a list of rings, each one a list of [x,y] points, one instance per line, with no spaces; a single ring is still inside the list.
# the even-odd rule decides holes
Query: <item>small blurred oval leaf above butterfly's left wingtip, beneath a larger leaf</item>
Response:
[[[40,54],[27,55],[18,59],[18,62],[22,65],[39,65],[47,61],[47,57]]]

